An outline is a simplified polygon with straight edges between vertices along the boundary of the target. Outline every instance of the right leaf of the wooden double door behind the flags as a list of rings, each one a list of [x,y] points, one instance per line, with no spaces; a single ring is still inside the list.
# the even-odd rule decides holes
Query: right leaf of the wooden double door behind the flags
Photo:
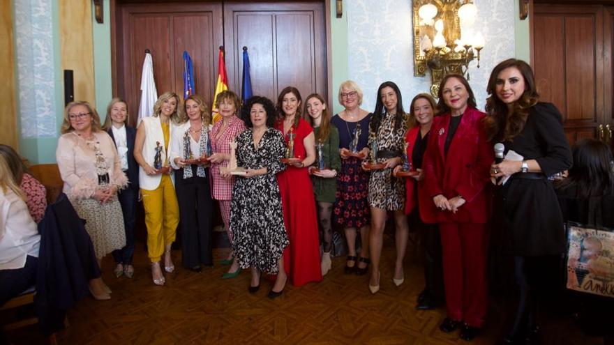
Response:
[[[285,86],[327,98],[323,2],[225,3],[230,89],[241,91],[243,47],[248,47],[255,94],[276,100]]]

